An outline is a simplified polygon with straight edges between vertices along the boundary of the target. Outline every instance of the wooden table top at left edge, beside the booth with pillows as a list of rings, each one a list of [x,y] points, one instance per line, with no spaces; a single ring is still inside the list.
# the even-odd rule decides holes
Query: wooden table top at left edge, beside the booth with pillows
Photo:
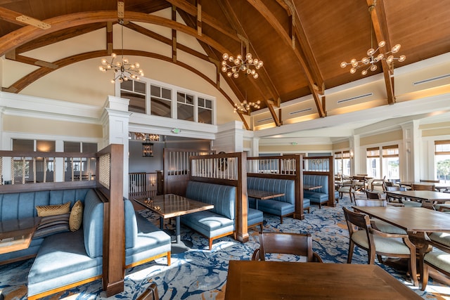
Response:
[[[39,216],[0,222],[0,254],[27,249],[41,218]]]

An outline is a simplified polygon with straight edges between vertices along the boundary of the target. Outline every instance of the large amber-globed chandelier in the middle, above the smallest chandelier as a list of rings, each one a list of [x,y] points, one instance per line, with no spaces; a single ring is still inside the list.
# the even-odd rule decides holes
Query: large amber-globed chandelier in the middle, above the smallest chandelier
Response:
[[[224,53],[222,56],[222,72],[225,72],[228,77],[233,76],[234,78],[239,77],[239,71],[245,72],[245,74],[251,74],[253,78],[257,79],[259,77],[256,70],[262,67],[262,60],[257,58],[252,58],[252,53],[247,53],[243,56],[238,54],[236,58],[229,56],[228,53]]]

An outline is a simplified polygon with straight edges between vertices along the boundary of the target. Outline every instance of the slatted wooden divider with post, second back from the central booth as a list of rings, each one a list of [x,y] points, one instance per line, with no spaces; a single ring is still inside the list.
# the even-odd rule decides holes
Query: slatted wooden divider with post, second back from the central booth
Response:
[[[294,219],[304,219],[302,155],[247,157],[247,176],[295,181]],[[298,170],[298,171],[297,171]]]

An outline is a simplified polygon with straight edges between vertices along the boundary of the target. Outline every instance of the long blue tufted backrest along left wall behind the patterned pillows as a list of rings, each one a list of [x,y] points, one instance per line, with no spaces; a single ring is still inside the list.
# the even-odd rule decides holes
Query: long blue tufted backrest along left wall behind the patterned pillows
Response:
[[[70,207],[84,202],[89,188],[70,190],[41,190],[37,192],[0,194],[0,221],[37,216],[39,205],[56,205],[70,202]]]

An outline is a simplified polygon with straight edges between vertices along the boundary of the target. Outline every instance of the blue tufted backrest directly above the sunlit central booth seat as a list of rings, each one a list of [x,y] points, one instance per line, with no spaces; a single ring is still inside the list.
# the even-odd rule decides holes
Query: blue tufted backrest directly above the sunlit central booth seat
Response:
[[[186,198],[213,204],[211,211],[234,220],[236,205],[236,187],[214,183],[189,181]]]

